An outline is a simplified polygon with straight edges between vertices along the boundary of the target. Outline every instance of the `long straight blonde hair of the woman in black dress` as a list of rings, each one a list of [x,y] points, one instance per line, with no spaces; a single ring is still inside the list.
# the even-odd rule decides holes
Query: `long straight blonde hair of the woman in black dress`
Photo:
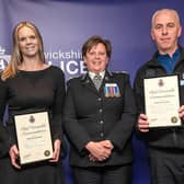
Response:
[[[22,28],[24,26],[30,27],[35,33],[35,35],[38,39],[39,58],[41,58],[42,62],[45,64],[44,44],[43,44],[43,38],[42,38],[42,35],[41,35],[38,28],[32,22],[20,22],[15,25],[15,27],[13,30],[13,35],[12,35],[13,51],[12,51],[9,65],[2,71],[2,74],[1,74],[1,79],[3,81],[5,81],[9,78],[13,78],[19,70],[19,66],[23,62],[23,56],[22,56],[22,53],[21,53],[20,46],[19,46],[18,33],[19,33],[20,28]]]

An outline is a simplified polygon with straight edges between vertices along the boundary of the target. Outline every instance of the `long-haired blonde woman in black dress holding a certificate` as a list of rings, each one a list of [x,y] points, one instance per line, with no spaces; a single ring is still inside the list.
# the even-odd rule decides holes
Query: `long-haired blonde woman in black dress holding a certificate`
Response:
[[[13,31],[10,64],[2,71],[0,79],[0,119],[2,124],[8,106],[5,125],[10,136],[7,140],[10,159],[7,154],[0,166],[2,184],[61,184],[64,99],[64,72],[58,67],[46,64],[38,28],[31,22],[20,22]],[[37,112],[48,114],[53,156],[50,160],[21,165],[14,116]]]

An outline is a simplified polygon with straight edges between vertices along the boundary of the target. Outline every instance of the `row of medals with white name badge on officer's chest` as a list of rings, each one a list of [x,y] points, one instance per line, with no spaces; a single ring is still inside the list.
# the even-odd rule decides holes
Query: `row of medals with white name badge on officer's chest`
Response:
[[[120,92],[117,83],[105,83],[104,87],[105,97],[119,97]]]

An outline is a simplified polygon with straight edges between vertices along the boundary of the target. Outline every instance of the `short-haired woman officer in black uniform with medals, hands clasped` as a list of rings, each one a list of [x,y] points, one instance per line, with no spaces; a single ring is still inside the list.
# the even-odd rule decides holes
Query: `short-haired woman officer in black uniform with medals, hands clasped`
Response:
[[[131,183],[136,105],[129,76],[106,69],[111,53],[108,41],[90,37],[82,47],[87,74],[68,81],[65,129],[76,184]]]

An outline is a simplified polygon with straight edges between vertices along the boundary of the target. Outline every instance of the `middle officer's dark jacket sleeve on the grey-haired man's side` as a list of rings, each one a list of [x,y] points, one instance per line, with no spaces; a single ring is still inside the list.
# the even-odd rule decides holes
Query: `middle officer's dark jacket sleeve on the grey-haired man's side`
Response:
[[[129,76],[126,74],[122,79],[122,84],[124,84],[124,92],[123,92],[123,100],[124,100],[124,107],[122,112],[120,119],[112,129],[111,134],[107,136],[107,139],[111,140],[115,147],[123,150],[126,147],[133,136],[133,130],[136,122],[136,105],[134,93],[129,82]]]

